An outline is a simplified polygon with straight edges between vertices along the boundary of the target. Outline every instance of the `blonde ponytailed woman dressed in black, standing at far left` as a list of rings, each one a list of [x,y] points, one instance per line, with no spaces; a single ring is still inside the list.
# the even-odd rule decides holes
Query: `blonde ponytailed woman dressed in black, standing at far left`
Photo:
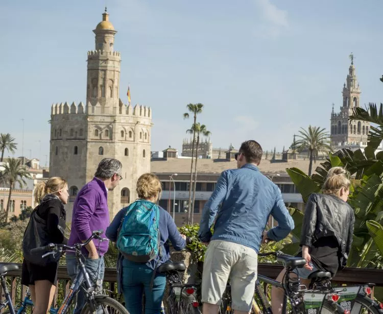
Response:
[[[41,180],[34,191],[37,206],[24,234],[21,271],[21,283],[30,287],[34,314],[46,314],[49,310],[56,290],[58,261],[41,259],[41,263],[36,264],[36,259],[30,255],[34,248],[30,247],[31,239],[43,239],[44,243],[39,243],[40,246],[66,243],[64,204],[68,202],[68,197],[67,182],[60,177]]]

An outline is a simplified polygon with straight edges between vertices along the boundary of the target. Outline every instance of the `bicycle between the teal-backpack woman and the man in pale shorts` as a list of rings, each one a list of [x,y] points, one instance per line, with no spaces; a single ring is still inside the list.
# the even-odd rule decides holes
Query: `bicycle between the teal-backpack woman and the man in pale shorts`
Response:
[[[181,273],[185,270],[183,261],[173,263],[171,260],[157,269],[158,273],[166,275],[166,284],[170,286],[166,298],[167,314],[201,314],[196,299],[196,284],[182,283]]]

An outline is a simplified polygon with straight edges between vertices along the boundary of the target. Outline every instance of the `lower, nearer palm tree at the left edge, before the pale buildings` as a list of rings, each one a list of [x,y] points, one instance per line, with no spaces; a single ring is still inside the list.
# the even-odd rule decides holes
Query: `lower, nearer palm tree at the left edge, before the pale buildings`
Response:
[[[17,182],[20,187],[23,187],[27,184],[25,179],[30,179],[31,174],[27,171],[27,168],[22,165],[21,159],[10,158],[8,163],[4,165],[3,176],[9,184],[9,195],[7,203],[7,214],[5,217],[5,222],[8,222],[8,214],[11,205],[12,190],[15,188],[15,183]]]

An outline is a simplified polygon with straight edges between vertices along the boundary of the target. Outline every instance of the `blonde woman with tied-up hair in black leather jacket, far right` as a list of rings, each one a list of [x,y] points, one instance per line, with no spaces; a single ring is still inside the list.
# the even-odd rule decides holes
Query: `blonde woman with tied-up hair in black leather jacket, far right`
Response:
[[[332,277],[347,264],[352,244],[355,216],[349,204],[350,174],[343,167],[328,171],[322,194],[313,193],[304,211],[300,246],[301,256],[306,260],[303,268],[295,273],[307,286],[308,276],[314,272],[327,271]],[[281,282],[285,270],[277,277]],[[271,294],[273,313],[281,311],[283,290],[273,287]]]

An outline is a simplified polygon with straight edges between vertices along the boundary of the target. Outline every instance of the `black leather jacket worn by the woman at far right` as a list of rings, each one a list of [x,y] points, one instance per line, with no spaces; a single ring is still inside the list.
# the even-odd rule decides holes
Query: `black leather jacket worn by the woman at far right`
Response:
[[[303,217],[301,245],[311,247],[322,237],[334,236],[339,245],[339,265],[344,268],[352,244],[355,216],[351,206],[339,197],[313,193]]]

